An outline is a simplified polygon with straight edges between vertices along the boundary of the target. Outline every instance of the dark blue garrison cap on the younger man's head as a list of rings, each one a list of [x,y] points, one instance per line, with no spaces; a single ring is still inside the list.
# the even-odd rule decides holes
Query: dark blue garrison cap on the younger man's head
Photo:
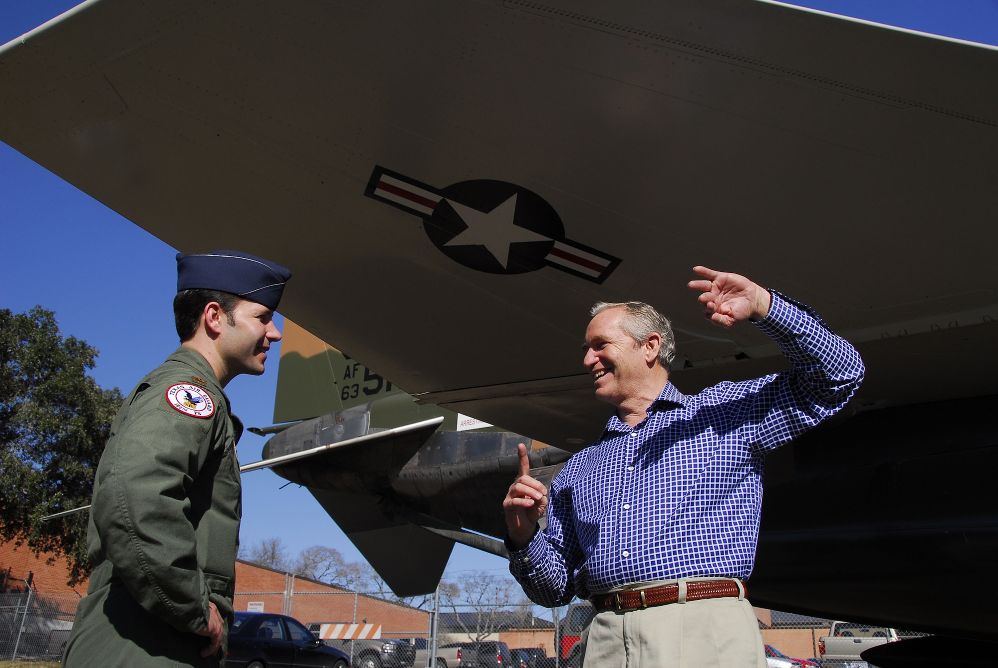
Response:
[[[290,277],[287,267],[238,250],[177,253],[178,292],[192,288],[232,292],[274,311]]]

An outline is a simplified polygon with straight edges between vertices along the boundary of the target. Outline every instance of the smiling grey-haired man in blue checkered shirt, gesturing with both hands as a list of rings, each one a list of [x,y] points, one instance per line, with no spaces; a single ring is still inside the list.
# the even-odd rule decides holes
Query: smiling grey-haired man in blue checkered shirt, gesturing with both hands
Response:
[[[863,377],[855,349],[806,306],[745,276],[694,271],[705,315],[749,320],[791,368],[684,396],[669,382],[669,321],[641,302],[597,304],[584,364],[617,412],[552,483],[550,508],[522,445],[503,502],[510,571],[530,598],[596,606],[586,668],[765,667],[743,584],[764,456],[840,410]]]

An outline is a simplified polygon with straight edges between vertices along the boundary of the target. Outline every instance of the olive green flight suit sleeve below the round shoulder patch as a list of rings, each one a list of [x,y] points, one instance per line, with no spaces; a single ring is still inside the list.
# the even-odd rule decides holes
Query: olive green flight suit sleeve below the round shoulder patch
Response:
[[[169,387],[149,386],[133,400],[101,459],[91,513],[115,574],[135,600],[194,632],[208,619],[210,590],[198,561],[200,517],[188,492],[221,455],[225,421],[218,407],[209,418],[176,410]]]

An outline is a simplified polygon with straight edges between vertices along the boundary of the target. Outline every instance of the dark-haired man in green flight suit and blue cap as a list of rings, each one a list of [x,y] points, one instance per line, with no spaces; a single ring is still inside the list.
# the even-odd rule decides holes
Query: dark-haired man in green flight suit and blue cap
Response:
[[[263,373],[290,272],[232,250],[177,255],[178,348],[132,391],[94,481],[94,566],[63,666],[225,664],[243,424],[223,388]]]

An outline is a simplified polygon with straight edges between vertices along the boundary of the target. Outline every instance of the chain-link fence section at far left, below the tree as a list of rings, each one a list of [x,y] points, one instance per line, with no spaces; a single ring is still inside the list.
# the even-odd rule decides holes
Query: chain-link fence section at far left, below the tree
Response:
[[[58,661],[79,603],[76,594],[34,589],[0,594],[0,659]]]

